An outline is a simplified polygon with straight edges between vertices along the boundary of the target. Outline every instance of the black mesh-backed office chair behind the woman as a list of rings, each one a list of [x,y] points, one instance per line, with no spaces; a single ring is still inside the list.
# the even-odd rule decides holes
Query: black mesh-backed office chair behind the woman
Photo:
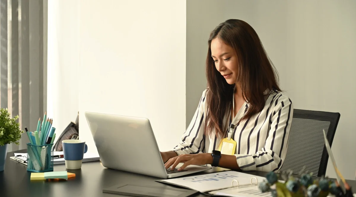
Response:
[[[339,119],[340,113],[294,109],[287,154],[280,171],[299,174],[305,167],[313,176],[325,175],[329,154],[323,129],[331,146]]]

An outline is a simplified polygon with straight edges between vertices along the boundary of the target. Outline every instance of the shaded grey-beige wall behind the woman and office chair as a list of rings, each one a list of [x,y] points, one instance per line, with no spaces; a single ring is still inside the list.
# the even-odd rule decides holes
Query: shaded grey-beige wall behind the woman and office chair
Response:
[[[187,72],[192,72],[187,87],[199,94],[205,88],[201,73],[210,31],[226,19],[246,21],[260,36],[294,108],[341,114],[332,151],[344,177],[355,179],[355,9],[352,0],[187,1]],[[188,94],[187,88],[187,120],[198,93]],[[335,177],[330,160],[326,175]]]

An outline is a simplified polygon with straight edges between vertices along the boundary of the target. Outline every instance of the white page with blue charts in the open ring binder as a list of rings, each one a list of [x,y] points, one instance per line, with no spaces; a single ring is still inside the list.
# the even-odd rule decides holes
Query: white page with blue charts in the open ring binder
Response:
[[[224,171],[220,173],[195,175],[175,179],[165,179],[161,181],[183,186],[203,193],[229,188],[231,187],[231,182],[234,179],[239,181],[240,186],[251,185],[251,178],[253,177],[255,177],[258,182],[262,182],[266,179],[262,176],[255,176],[237,171]],[[256,179],[252,179],[253,184],[256,184]],[[237,186],[236,182],[234,186]]]

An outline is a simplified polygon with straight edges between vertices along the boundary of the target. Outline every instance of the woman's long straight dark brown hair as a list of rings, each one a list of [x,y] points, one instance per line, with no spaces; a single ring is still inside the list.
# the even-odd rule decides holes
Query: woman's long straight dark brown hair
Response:
[[[209,49],[206,56],[206,79],[208,80],[207,103],[208,116],[205,119],[205,134],[223,137],[223,118],[230,112],[234,86],[226,82],[216,69],[211,57],[211,40],[219,38],[234,49],[238,59],[237,80],[241,86],[242,97],[250,104],[240,121],[249,119],[262,111],[265,106],[266,90],[281,91],[278,86],[278,74],[266,54],[255,30],[245,21],[229,19],[220,23],[210,34]]]

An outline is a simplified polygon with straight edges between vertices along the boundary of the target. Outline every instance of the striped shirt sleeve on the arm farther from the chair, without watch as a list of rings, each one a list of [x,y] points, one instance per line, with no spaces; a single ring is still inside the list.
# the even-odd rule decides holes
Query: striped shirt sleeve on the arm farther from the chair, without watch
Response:
[[[180,143],[173,148],[173,151],[180,154],[197,154],[204,152],[205,135],[204,135],[204,105],[206,99],[206,91],[200,98],[197,110],[194,113],[192,121],[187,130],[182,135]]]

